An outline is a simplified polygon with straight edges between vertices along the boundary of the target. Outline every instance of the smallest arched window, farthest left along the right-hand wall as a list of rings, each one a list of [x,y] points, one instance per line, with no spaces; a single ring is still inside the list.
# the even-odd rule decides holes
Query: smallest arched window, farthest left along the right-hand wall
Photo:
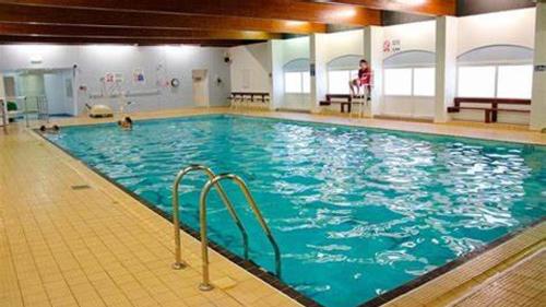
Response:
[[[309,59],[295,59],[283,67],[284,92],[288,94],[308,94],[311,92]]]

